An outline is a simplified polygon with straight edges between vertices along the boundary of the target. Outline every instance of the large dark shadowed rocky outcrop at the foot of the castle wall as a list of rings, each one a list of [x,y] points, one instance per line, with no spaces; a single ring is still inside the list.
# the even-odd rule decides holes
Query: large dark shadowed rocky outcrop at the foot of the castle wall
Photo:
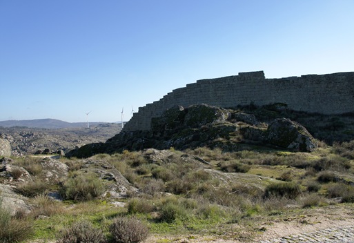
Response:
[[[262,113],[263,116],[266,111]],[[203,146],[239,150],[242,149],[242,144],[276,146],[298,151],[312,151],[317,147],[315,139],[304,126],[285,118],[269,120],[273,122],[268,125],[268,120],[262,119],[259,122],[256,115],[242,113],[239,109],[206,104],[188,108],[174,106],[161,117],[153,118],[150,130],[121,132],[106,143],[88,144],[70,151],[67,156],[90,157],[97,153],[146,148],[165,150],[171,147],[178,150]]]

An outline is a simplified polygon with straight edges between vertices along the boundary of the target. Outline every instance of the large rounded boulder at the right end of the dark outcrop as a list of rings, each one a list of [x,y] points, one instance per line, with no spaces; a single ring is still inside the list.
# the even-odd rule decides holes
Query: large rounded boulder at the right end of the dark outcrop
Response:
[[[275,146],[302,152],[311,152],[317,148],[315,139],[304,126],[286,118],[275,119],[269,124],[266,141]]]

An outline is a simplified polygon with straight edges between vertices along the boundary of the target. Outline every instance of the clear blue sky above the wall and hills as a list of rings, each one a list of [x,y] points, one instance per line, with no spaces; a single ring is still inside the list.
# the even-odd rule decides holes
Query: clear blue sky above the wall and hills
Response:
[[[197,79],[354,71],[353,0],[0,0],[0,120],[117,122]]]

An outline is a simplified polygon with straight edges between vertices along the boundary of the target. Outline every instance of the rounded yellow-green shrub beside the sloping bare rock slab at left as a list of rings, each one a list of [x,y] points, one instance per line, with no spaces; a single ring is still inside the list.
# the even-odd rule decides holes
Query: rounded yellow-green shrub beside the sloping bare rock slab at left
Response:
[[[63,183],[60,191],[66,200],[88,201],[104,193],[104,184],[95,175],[75,175]]]

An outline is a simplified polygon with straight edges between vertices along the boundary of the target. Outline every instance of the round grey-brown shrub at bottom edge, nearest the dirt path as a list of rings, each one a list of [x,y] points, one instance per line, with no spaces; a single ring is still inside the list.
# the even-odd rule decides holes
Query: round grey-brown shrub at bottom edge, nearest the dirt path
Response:
[[[148,237],[148,228],[136,218],[117,217],[109,227],[115,242],[136,243]]]

